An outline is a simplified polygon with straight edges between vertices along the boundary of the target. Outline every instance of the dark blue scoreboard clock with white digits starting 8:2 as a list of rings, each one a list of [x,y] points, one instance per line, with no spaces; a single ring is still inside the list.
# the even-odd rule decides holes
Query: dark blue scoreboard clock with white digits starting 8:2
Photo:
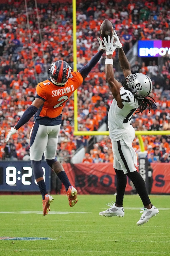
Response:
[[[51,168],[41,162],[47,191],[50,191]],[[0,161],[0,191],[39,191],[30,161]]]

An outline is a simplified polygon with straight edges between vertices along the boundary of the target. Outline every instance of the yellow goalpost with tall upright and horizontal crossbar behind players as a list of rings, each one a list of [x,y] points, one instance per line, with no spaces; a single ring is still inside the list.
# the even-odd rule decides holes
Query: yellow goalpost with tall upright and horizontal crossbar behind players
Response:
[[[76,38],[76,0],[72,0],[73,6],[73,69],[77,71],[77,38]],[[108,131],[78,131],[78,100],[77,90],[74,91],[74,132],[75,136],[108,136]],[[136,136],[139,139],[141,152],[145,151],[142,135],[169,135],[169,131],[136,131]]]

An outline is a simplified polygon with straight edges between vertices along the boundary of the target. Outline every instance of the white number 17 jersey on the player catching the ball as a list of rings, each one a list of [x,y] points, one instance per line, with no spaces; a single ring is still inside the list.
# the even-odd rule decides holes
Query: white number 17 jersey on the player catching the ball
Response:
[[[124,105],[123,108],[120,109],[117,101],[113,99],[108,112],[109,135],[113,141],[123,140],[132,134],[134,128],[131,125],[131,119],[139,106],[131,91],[121,87],[120,95]]]

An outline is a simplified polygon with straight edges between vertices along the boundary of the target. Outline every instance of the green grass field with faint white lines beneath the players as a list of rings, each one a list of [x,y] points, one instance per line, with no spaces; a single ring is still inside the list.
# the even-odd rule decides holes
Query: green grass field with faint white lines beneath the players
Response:
[[[0,196],[0,256],[170,255],[170,196],[150,196],[159,214],[139,227],[138,195],[124,196],[123,218],[99,215],[106,203],[115,201],[112,195],[79,195],[73,208],[66,196],[53,197],[51,212],[44,217],[40,195]]]

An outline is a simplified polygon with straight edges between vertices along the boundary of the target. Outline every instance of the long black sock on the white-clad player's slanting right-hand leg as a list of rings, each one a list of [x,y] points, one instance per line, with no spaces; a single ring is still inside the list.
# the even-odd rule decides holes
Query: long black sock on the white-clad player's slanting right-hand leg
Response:
[[[142,176],[137,171],[127,173],[126,175],[133,182],[133,184],[137,190],[137,193],[139,194],[139,196],[143,202],[143,205],[150,204],[151,201],[149,199],[145,181],[143,180]]]

